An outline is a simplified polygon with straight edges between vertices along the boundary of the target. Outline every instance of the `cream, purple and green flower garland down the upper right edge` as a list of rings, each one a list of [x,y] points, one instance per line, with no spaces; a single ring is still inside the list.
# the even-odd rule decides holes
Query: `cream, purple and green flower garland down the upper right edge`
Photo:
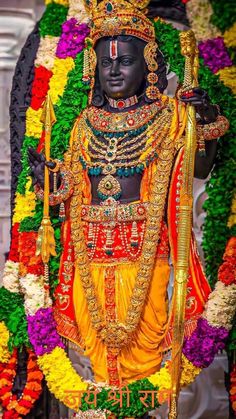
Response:
[[[212,286],[217,277],[227,240],[230,236],[236,235],[235,227],[232,226],[230,230],[227,225],[233,198],[232,173],[236,157],[236,119],[233,115],[235,98],[232,95],[236,93],[236,67],[226,48],[235,46],[236,24],[232,20],[234,19],[232,7],[233,3],[230,1],[220,4],[215,0],[190,0],[186,5],[187,16],[199,41],[200,56],[204,64],[219,77],[225,86],[231,89],[228,92],[225,89],[223,92],[221,88],[221,93],[217,93],[207,88],[213,102],[218,103],[223,112],[226,108],[227,118],[230,120],[230,130],[219,143],[219,156],[206,187],[208,199],[204,204],[207,217],[204,222],[203,250],[206,273]],[[225,29],[227,30],[222,34],[221,31]],[[203,86],[202,83],[201,85]],[[229,97],[228,103],[226,95]]]

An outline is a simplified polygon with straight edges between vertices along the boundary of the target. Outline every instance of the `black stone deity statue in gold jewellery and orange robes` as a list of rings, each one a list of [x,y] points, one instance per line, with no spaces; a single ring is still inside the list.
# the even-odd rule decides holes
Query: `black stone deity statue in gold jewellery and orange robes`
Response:
[[[177,259],[187,105],[197,112],[196,177],[210,173],[216,139],[228,127],[200,87],[165,95],[166,64],[147,2],[133,3],[104,0],[93,10],[83,73],[90,103],[64,160],[29,149],[38,199],[46,165],[49,203],[64,217],[57,331],[90,358],[96,382],[115,388],[154,374],[171,349],[168,285]],[[192,238],[186,336],[209,292]]]

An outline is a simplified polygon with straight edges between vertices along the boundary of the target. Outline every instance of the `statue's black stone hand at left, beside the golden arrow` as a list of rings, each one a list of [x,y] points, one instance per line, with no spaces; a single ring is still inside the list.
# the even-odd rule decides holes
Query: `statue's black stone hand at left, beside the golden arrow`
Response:
[[[45,165],[49,169],[53,169],[56,164],[52,161],[46,161],[42,153],[38,153],[32,147],[28,149],[29,165],[32,172],[33,185],[38,183],[41,188],[44,188],[44,169]]]

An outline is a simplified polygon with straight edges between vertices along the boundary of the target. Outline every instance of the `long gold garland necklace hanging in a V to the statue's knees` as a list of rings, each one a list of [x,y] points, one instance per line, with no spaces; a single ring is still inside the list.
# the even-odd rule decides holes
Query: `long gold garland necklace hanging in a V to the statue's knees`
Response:
[[[170,111],[173,116],[173,109],[170,108]],[[81,121],[83,121],[83,118]],[[74,174],[75,185],[74,194],[71,200],[70,216],[75,261],[79,269],[92,326],[97,331],[98,337],[100,337],[107,348],[114,353],[119,353],[120,349],[127,344],[129,339],[131,339],[132,334],[135,332],[136,327],[139,324],[152,278],[156,249],[160,237],[160,226],[164,214],[169,178],[174,159],[174,141],[169,136],[170,126],[171,123],[168,121],[168,127],[165,127],[165,136],[163,136],[162,141],[159,144],[159,155],[156,160],[156,169],[152,180],[150,202],[147,210],[146,231],[144,234],[142,254],[139,260],[139,270],[126,319],[123,323],[118,321],[106,322],[102,307],[100,306],[96,295],[81,221],[81,185],[83,172],[80,160],[81,142],[78,142],[77,138],[75,138],[72,146],[71,170]],[[157,121],[155,121],[155,127],[156,131],[153,132],[154,138],[147,138],[147,142],[150,144],[152,144],[154,140],[158,141],[158,117]],[[81,122],[78,123],[77,128],[78,133],[81,133]]]

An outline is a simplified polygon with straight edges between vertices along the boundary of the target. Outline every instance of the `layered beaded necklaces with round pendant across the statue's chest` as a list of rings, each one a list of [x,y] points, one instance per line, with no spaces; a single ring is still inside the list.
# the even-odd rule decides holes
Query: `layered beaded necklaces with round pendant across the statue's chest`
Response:
[[[110,115],[112,118],[114,114]],[[127,115],[122,116],[122,121],[127,120]],[[82,131],[87,145],[80,136],[80,161],[84,168],[88,168],[90,176],[105,175],[98,185],[98,196],[101,200],[110,197],[119,199],[122,189],[116,177],[142,173],[145,167],[158,158],[160,145],[167,135],[172,118],[171,105],[163,106],[155,117],[151,112],[150,118],[144,127],[139,127],[138,134],[136,130],[128,131],[127,127],[124,129],[124,126],[123,131],[113,134],[99,131],[92,126],[86,115],[82,118],[80,134]]]

